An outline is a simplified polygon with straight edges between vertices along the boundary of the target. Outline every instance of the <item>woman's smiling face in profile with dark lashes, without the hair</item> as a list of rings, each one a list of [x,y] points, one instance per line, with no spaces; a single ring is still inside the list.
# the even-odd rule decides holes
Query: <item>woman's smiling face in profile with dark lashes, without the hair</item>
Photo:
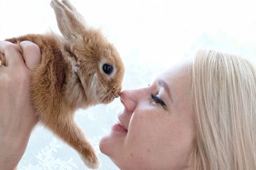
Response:
[[[121,94],[118,115],[100,150],[120,169],[186,169],[195,138],[189,63],[159,75],[147,88]]]

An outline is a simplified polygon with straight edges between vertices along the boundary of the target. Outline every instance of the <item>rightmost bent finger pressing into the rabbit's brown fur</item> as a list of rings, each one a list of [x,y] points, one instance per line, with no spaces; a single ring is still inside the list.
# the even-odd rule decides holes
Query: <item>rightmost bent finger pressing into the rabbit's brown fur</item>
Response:
[[[20,48],[22,49],[22,55],[26,66],[28,69],[33,71],[41,61],[41,52],[39,46],[31,41],[22,41],[20,42]]]

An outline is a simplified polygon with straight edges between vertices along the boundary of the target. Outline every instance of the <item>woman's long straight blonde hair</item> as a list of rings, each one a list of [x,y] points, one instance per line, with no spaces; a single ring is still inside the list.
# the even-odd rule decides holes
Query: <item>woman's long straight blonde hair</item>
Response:
[[[256,169],[256,68],[200,50],[192,64],[196,138],[193,169]]]

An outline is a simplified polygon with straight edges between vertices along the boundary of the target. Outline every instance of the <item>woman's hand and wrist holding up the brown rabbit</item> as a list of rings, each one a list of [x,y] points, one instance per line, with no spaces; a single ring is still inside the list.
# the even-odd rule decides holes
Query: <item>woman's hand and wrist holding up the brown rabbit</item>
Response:
[[[0,169],[15,169],[38,122],[30,101],[30,78],[40,63],[40,48],[29,41],[19,47],[0,41],[6,65],[0,66]]]

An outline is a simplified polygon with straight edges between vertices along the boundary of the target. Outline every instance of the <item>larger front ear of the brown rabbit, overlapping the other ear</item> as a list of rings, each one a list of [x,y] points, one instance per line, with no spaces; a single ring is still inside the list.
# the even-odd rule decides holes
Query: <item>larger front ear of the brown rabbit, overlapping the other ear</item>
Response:
[[[54,9],[61,34],[65,39],[74,42],[78,36],[82,36],[86,28],[84,27],[83,21],[81,21],[83,17],[77,13],[76,8],[68,1],[65,1],[65,4],[58,0],[51,1],[51,6]]]

